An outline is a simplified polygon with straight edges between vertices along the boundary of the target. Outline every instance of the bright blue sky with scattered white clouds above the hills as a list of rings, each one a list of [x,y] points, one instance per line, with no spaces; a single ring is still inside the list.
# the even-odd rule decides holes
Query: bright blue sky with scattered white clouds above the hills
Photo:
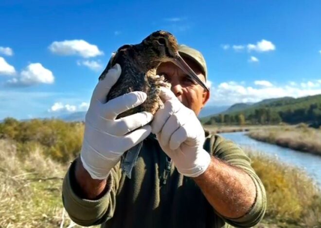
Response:
[[[321,94],[321,1],[0,1],[0,119],[85,111],[112,51],[166,30],[205,56],[208,105]]]

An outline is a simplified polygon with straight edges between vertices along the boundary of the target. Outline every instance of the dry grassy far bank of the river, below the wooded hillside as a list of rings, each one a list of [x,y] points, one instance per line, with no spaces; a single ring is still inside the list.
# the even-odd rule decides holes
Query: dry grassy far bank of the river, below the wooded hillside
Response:
[[[321,130],[304,124],[250,130],[248,135],[258,141],[321,155]]]

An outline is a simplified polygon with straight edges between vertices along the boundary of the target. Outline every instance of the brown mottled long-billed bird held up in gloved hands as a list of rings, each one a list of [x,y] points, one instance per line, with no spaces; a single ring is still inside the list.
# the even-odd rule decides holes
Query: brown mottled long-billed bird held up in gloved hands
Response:
[[[196,81],[207,91],[209,90],[179,55],[175,36],[166,31],[156,31],[144,38],[139,44],[120,47],[99,76],[99,80],[103,80],[108,70],[115,64],[119,64],[122,68],[121,75],[110,88],[106,101],[133,91],[143,91],[147,94],[146,100],[141,105],[118,114],[116,118],[143,111],[155,114],[162,107],[163,103],[159,97],[160,87],[171,87],[163,75],[156,74],[158,66],[163,62],[173,62],[178,65],[193,81]],[[142,145],[143,142],[130,148],[124,153],[121,160],[121,168],[129,179]]]

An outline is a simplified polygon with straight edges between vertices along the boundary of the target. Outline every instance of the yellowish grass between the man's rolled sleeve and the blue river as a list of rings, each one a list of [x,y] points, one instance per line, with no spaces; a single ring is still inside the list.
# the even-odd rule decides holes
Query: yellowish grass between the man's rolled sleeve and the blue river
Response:
[[[265,221],[278,227],[321,227],[321,191],[297,167],[247,151],[267,192]]]

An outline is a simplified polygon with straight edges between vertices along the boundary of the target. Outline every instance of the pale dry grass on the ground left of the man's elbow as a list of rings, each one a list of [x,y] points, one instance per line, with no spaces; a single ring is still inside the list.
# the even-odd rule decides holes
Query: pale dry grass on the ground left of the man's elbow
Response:
[[[70,225],[68,216],[62,216],[64,170],[63,165],[45,158],[40,147],[34,148],[27,159],[21,159],[15,143],[0,140],[0,227]]]

